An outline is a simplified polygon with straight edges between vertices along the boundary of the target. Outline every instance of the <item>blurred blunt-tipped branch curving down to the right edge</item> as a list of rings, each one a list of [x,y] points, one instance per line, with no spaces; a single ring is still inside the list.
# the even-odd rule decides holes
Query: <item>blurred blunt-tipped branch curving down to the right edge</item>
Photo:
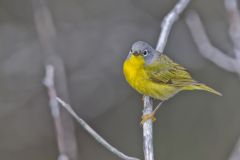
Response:
[[[229,72],[239,72],[237,61],[211,44],[196,12],[187,15],[186,23],[202,56]]]

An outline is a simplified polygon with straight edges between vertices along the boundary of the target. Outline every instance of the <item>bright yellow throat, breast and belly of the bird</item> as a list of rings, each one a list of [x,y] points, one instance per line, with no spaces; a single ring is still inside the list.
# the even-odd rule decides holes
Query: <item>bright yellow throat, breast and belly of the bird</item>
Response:
[[[159,100],[166,100],[179,92],[179,89],[171,85],[151,81],[144,70],[144,60],[141,58],[131,56],[124,62],[123,72],[130,86],[141,94]]]

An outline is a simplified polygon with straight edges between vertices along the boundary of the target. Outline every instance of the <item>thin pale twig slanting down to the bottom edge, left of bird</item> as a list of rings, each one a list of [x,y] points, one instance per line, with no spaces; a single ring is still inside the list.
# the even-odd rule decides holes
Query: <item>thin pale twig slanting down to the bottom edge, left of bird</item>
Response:
[[[105,139],[103,139],[96,131],[92,129],[82,118],[80,118],[72,109],[72,107],[65,103],[62,99],[59,97],[56,98],[56,100],[71,114],[73,118],[76,119],[76,121],[100,144],[102,144],[104,147],[106,147],[109,151],[111,151],[113,154],[117,155],[119,158],[124,160],[139,160],[138,158],[129,157],[125,155],[124,153],[120,152],[118,149],[113,147],[111,144],[109,144]]]

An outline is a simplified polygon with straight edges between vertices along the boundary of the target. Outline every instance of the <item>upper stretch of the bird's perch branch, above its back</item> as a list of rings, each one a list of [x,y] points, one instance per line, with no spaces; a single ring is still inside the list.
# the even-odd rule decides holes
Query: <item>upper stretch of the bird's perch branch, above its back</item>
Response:
[[[161,24],[161,32],[156,46],[156,50],[158,50],[160,53],[163,52],[166,46],[173,23],[178,20],[179,15],[184,11],[189,2],[190,0],[180,0],[175,5],[175,7],[167,14],[167,16],[164,17]]]

